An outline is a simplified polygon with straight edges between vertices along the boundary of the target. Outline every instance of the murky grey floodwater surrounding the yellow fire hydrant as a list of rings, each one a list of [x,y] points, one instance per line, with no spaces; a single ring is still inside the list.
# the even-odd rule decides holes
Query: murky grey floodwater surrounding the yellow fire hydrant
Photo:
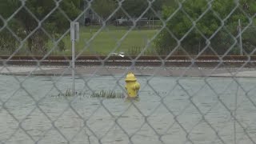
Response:
[[[122,76],[0,76],[0,143],[254,143],[256,78],[138,76],[139,101],[90,98],[122,92]]]

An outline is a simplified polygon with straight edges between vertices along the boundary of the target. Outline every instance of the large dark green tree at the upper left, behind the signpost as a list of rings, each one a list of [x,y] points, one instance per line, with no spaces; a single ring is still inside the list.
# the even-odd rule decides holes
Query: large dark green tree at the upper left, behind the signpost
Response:
[[[25,6],[22,5],[25,2]],[[0,14],[8,21],[8,26],[21,40],[27,38],[30,52],[46,53],[46,43],[49,35],[58,38],[68,30],[70,21],[80,14],[81,0],[62,0],[57,3],[52,0],[6,0],[0,3]],[[15,13],[16,12],[16,13]],[[47,34],[46,34],[46,32]],[[2,33],[2,31],[1,31]],[[2,34],[1,34],[2,35]],[[4,35],[1,37],[3,38]]]

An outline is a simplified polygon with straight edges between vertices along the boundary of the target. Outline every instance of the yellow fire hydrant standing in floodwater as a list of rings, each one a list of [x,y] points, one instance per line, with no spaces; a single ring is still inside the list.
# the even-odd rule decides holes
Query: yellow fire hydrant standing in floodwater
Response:
[[[128,73],[126,75],[126,90],[128,94],[128,98],[137,98],[138,90],[140,88],[139,83],[137,82],[137,78],[135,78],[133,73]]]

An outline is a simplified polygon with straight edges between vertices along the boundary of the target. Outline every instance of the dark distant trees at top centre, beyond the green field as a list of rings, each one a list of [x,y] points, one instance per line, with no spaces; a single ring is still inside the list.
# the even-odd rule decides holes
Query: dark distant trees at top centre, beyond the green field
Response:
[[[152,8],[158,12],[162,10],[162,5],[169,5],[173,0],[152,0]],[[90,1],[88,1],[90,2]],[[150,18],[154,15],[152,10],[146,10],[149,2],[145,0],[122,1],[122,9],[118,8],[118,0],[92,0],[91,8],[103,20],[111,16],[110,20],[116,18],[138,18],[144,11],[142,17]],[[121,1],[120,1],[121,2]],[[88,5],[88,4],[87,4]],[[114,12],[117,10],[116,12]],[[124,12],[125,11],[125,12]],[[155,16],[155,15],[154,15]]]

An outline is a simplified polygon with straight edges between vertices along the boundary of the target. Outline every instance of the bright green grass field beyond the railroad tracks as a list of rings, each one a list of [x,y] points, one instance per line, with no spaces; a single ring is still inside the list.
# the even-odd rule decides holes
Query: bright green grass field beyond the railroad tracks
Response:
[[[128,34],[128,27],[109,26],[102,30],[99,26],[82,26],[80,28],[80,38],[75,44],[76,54],[100,54],[107,55],[111,52],[128,53],[132,49],[142,50],[146,42],[157,34],[158,30],[131,30]],[[124,35],[126,35],[125,38]],[[122,39],[123,38],[123,39]],[[121,40],[122,39],[122,40]],[[70,34],[63,38],[65,42],[65,54],[71,54]],[[118,42],[120,45],[118,46]],[[89,44],[89,46],[86,46]],[[112,51],[116,48],[115,51]],[[154,42],[151,43],[150,49],[154,48]],[[61,54],[55,51],[54,54]]]

